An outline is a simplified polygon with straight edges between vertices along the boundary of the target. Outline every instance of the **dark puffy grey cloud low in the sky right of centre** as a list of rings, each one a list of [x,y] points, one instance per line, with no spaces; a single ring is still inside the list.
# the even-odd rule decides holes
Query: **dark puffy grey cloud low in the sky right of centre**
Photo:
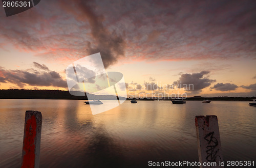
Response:
[[[184,88],[188,92],[199,93],[202,89],[210,86],[212,82],[216,81],[204,77],[204,75],[207,75],[209,73],[209,71],[202,71],[200,73],[181,74],[179,80],[173,82],[173,85],[177,88]]]

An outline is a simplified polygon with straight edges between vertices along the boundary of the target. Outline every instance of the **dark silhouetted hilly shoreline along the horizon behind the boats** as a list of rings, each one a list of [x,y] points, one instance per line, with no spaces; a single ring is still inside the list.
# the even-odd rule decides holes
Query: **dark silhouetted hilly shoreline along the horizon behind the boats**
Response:
[[[61,91],[61,90],[24,90],[24,89],[7,89],[7,90],[0,90],[0,99],[49,99],[49,100],[88,100],[86,94],[85,96],[73,96],[69,93],[69,91]],[[116,96],[113,95],[102,95],[96,96],[90,94],[95,99],[100,100],[116,100]],[[126,100],[131,100],[132,98],[127,98]],[[186,101],[202,101],[204,99],[211,100],[211,101],[251,101],[252,99],[256,99],[256,97],[201,97],[201,96],[194,96],[188,97],[184,100]],[[162,98],[137,98],[137,100],[144,100],[144,101],[153,101],[153,100],[162,100],[168,101],[172,100],[168,97]]]

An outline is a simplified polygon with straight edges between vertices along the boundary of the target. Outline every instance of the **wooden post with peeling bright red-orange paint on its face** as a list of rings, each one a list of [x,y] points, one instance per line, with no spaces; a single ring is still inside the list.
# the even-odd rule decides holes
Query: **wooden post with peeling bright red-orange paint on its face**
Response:
[[[39,167],[42,115],[40,111],[26,111],[22,167]]]

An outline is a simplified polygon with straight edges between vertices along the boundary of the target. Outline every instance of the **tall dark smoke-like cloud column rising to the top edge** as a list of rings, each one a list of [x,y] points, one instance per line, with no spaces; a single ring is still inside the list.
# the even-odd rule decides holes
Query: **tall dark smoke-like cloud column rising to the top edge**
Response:
[[[70,6],[70,2],[64,6]],[[104,25],[104,15],[96,14],[95,4],[88,1],[76,1],[76,8],[69,10],[77,15],[77,18],[84,16],[90,24],[92,41],[87,42],[87,51],[89,54],[100,52],[105,68],[117,62],[117,59],[124,55],[125,41],[123,37],[115,30],[109,31]]]

